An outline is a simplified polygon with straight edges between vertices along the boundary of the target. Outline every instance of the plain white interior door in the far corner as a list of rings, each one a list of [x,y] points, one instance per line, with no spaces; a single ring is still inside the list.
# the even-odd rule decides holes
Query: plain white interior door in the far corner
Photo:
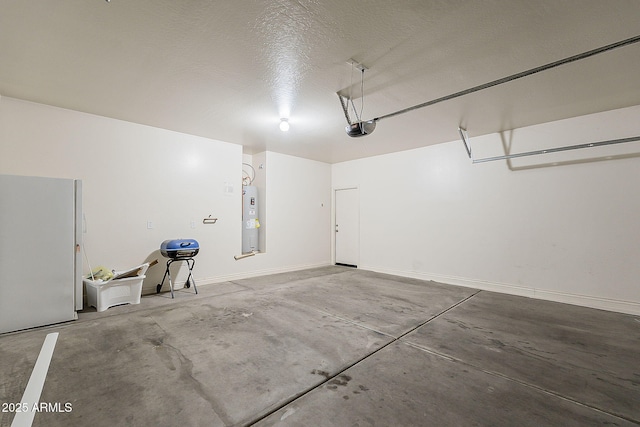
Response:
[[[360,206],[358,189],[335,190],[336,264],[357,267],[360,256]]]

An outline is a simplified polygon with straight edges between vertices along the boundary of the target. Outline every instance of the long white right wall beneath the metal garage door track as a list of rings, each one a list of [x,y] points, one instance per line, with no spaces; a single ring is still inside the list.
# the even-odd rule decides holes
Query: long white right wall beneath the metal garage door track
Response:
[[[511,153],[640,135],[640,107],[503,135]],[[504,154],[474,137],[474,158]],[[640,143],[471,164],[459,140],[332,166],[360,267],[640,314]],[[611,159],[609,159],[610,157]]]

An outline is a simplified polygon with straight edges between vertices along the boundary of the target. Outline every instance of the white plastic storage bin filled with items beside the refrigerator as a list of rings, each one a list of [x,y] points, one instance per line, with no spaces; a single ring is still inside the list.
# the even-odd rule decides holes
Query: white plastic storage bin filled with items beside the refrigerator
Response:
[[[99,312],[120,304],[140,304],[142,281],[147,277],[144,273],[148,267],[149,264],[140,266],[139,275],[134,277],[112,279],[106,282],[84,279],[87,303]],[[115,272],[115,277],[118,277],[118,272]]]

